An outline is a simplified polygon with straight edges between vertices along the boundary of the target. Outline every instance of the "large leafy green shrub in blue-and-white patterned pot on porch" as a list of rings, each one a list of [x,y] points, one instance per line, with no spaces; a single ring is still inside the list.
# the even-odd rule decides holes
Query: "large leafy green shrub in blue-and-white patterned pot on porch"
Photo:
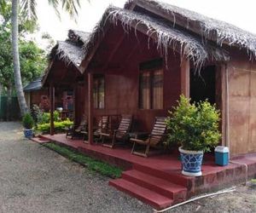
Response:
[[[177,107],[166,119],[168,144],[177,143],[182,160],[182,173],[201,176],[203,153],[218,145],[219,111],[208,101],[190,103],[181,95]]]

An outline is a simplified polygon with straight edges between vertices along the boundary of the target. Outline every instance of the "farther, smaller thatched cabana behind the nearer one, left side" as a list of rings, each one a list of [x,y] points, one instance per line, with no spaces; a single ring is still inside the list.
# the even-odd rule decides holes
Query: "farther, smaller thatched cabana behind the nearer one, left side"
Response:
[[[49,67],[42,81],[44,88],[49,89],[50,108],[62,106],[67,110],[67,117],[73,114],[75,123],[79,123],[84,114],[84,76],[80,64],[88,36],[87,32],[70,30],[67,40],[59,41],[51,50]],[[61,105],[57,102],[59,96]]]

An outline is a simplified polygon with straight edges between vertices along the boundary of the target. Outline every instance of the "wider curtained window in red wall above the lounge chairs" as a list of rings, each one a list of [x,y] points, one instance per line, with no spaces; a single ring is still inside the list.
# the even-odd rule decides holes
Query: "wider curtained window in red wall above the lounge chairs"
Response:
[[[163,70],[140,73],[139,107],[141,109],[163,108]]]

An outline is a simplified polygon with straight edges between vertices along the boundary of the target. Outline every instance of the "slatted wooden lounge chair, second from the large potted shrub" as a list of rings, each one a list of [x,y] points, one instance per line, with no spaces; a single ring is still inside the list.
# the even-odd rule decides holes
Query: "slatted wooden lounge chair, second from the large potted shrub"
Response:
[[[113,148],[116,145],[116,141],[125,141],[125,137],[131,130],[132,116],[122,115],[117,130],[110,130],[106,133],[101,133],[102,145],[104,147]],[[106,139],[110,139],[111,143],[105,143]],[[127,138],[126,138],[127,139]]]

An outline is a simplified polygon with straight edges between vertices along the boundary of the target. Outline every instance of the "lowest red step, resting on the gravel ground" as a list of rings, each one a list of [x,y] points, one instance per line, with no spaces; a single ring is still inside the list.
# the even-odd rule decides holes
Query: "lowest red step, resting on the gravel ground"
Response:
[[[120,178],[109,181],[109,185],[142,200],[146,204],[152,205],[157,210],[165,209],[166,207],[171,206],[173,203],[172,199],[125,179]]]

